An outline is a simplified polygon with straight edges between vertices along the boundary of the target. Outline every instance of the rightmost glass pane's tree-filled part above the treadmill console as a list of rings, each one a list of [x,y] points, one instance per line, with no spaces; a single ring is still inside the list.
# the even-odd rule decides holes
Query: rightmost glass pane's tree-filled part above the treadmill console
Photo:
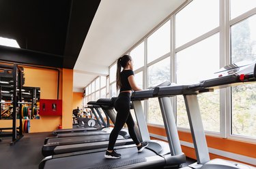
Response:
[[[256,15],[231,26],[231,62],[256,60]]]

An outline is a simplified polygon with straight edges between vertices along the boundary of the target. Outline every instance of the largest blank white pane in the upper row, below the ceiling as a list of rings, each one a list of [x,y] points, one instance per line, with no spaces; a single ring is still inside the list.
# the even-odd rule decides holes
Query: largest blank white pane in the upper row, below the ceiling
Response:
[[[194,0],[176,14],[176,47],[219,26],[219,1]]]

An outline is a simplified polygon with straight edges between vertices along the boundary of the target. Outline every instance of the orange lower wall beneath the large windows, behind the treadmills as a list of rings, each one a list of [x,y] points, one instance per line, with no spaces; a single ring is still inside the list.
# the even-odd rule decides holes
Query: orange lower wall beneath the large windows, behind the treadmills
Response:
[[[165,128],[160,128],[157,126],[150,126],[148,125],[148,130],[152,134],[158,134],[160,136],[167,136],[165,132]],[[186,141],[188,143],[193,143],[193,138],[190,134],[190,132],[178,132],[180,140]],[[246,143],[243,141],[238,141],[238,140],[232,140],[228,138],[219,138],[216,136],[206,136],[206,141],[208,144],[208,147],[213,148],[213,149],[219,149],[222,151],[227,151],[230,153],[236,153],[239,155],[244,155],[248,157],[253,157],[256,158],[256,153],[252,153],[256,150],[256,143]],[[193,159],[196,159],[195,155],[195,149],[182,146],[182,151],[185,153],[187,157],[191,157]],[[228,159],[227,157],[223,157],[220,155],[215,155],[210,153],[210,158],[221,158],[221,159]],[[234,159],[229,159],[232,161],[236,161]]]

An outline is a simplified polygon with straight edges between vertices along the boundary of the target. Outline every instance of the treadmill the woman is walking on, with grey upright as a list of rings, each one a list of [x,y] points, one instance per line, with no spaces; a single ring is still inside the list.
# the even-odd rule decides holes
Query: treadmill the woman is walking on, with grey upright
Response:
[[[106,159],[104,157],[106,148],[79,151],[76,153],[63,153],[42,159],[39,168],[162,168],[165,166],[180,166],[180,164],[186,162],[186,156],[182,153],[180,144],[175,144],[177,146],[170,147],[169,145],[173,145],[173,143],[150,140],[141,100],[153,97],[153,92],[153,89],[142,90],[133,92],[131,96],[139,126],[138,136],[141,141],[147,141],[149,143],[143,152],[138,153],[136,145],[115,147],[118,153],[122,153],[122,157],[115,160]],[[173,121],[173,123],[175,124],[175,121]],[[177,132],[177,128],[172,131]],[[170,141],[173,140],[179,141],[179,138],[173,137]],[[175,153],[177,154],[171,153],[170,148],[175,149]]]

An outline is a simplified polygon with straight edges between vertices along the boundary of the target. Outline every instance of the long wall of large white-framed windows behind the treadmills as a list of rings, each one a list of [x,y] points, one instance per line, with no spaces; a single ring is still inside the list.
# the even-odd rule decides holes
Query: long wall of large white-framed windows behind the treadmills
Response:
[[[135,81],[140,88],[153,87],[163,81],[199,83],[212,78],[213,73],[230,62],[256,60],[255,0],[187,1],[183,8],[162,23],[130,51]],[[115,73],[116,63],[113,63],[106,79],[106,97],[117,96]],[[86,89],[88,100],[94,98],[91,85]],[[100,93],[102,90],[100,86]],[[255,84],[246,84],[198,94],[203,127],[209,131],[207,134],[238,139],[246,136],[250,137],[246,139],[255,141],[255,91]],[[173,108],[177,126],[188,130],[184,98],[175,98],[172,102],[176,104]],[[163,125],[157,98],[145,100],[143,106],[148,123]]]

